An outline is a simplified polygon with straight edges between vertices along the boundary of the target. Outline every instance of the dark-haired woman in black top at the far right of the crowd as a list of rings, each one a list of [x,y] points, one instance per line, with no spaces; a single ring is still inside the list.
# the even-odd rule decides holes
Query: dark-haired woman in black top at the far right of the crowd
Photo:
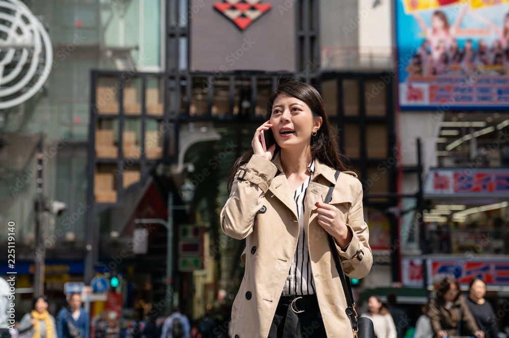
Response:
[[[497,338],[498,328],[495,312],[491,304],[484,299],[485,295],[486,284],[483,280],[474,278],[470,282],[470,292],[465,302],[477,326],[483,330],[485,338]]]

